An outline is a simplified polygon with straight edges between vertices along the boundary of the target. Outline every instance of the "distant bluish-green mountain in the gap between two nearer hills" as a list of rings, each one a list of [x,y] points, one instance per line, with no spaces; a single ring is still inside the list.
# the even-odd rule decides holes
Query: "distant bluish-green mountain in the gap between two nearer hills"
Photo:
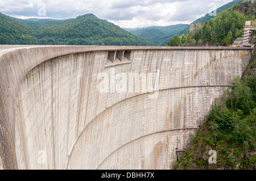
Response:
[[[188,24],[176,24],[171,26],[152,26],[146,28],[124,28],[126,31],[141,37],[144,40],[151,41],[155,46],[164,46],[167,41],[172,39],[177,32],[182,31]]]

